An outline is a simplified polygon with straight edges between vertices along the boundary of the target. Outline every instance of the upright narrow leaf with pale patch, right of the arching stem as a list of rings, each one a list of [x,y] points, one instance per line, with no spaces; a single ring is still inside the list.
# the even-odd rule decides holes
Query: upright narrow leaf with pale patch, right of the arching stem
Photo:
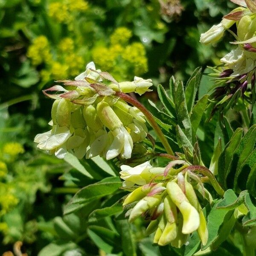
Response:
[[[189,113],[186,108],[186,100],[184,94],[183,83],[181,81],[175,81],[174,86],[174,101],[175,110],[178,119],[178,125],[180,126],[183,133],[186,135],[189,142],[192,142],[192,129],[191,122],[189,119]]]

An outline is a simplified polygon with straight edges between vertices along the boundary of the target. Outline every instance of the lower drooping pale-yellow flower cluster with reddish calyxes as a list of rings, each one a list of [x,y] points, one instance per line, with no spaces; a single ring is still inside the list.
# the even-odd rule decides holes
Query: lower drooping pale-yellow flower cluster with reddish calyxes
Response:
[[[175,166],[181,165],[179,168]],[[205,245],[208,240],[207,223],[195,190],[203,196],[209,192],[200,184],[197,175],[190,172],[189,164],[174,160],[166,168],[153,167],[149,162],[134,168],[121,166],[124,188],[140,185],[123,203],[128,210],[129,221],[140,216],[149,220],[146,234],[155,232],[154,243],[181,247],[194,231]]]

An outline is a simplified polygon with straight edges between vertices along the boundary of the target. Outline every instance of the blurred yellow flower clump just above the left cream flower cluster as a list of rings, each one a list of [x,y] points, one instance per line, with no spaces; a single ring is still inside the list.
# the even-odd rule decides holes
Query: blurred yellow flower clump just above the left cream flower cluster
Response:
[[[111,72],[119,81],[126,79],[128,73],[140,76],[148,70],[145,48],[139,42],[128,44],[131,36],[131,30],[119,27],[111,35],[109,47],[98,46],[92,50],[97,66]]]

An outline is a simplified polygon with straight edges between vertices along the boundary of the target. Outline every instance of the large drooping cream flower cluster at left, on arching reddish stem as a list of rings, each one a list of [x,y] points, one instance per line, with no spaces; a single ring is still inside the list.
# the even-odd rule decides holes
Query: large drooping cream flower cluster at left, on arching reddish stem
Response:
[[[104,84],[102,78],[110,83]],[[44,90],[55,102],[49,123],[52,129],[35,137],[38,148],[55,153],[58,158],[63,158],[67,151],[78,158],[85,155],[87,158],[100,155],[107,160],[118,155],[130,158],[134,143],[145,139],[147,127],[143,113],[115,97],[115,90],[143,94],[152,85],[151,80],[135,77],[132,82],[117,83],[90,62],[75,81],[62,82],[76,89],[69,91],[56,85]]]

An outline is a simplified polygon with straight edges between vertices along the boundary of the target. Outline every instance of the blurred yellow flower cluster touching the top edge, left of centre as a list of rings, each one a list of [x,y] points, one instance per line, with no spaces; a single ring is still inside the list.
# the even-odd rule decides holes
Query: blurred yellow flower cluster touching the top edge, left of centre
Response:
[[[49,16],[61,23],[69,23],[73,19],[71,12],[84,12],[88,9],[84,0],[66,0],[49,4]]]

